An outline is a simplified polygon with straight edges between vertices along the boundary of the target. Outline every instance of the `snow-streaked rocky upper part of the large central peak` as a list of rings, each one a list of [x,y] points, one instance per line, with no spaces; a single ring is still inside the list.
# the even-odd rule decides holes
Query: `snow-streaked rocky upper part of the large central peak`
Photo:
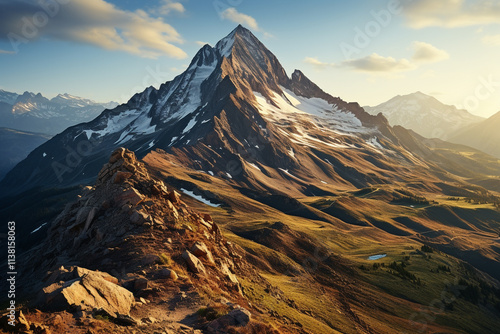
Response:
[[[140,157],[161,148],[193,167],[222,177],[235,174],[243,182],[254,173],[246,172],[249,164],[278,171],[312,164],[328,179],[330,173],[344,174],[343,167],[335,171],[327,157],[312,161],[307,150],[357,145],[378,154],[377,138],[383,137],[397,142],[385,118],[325,93],[298,70],[289,77],[276,56],[238,26],[215,47],[202,47],[172,81],[149,87],[40,146],[1,186],[19,191],[92,182],[119,146]],[[352,175],[341,178],[359,184]]]

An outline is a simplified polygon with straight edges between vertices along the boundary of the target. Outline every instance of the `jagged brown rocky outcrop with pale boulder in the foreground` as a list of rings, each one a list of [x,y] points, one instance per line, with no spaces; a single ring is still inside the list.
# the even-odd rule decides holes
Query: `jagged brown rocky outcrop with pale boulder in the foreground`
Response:
[[[279,333],[238,277],[280,291],[124,148],[21,261],[17,333]]]

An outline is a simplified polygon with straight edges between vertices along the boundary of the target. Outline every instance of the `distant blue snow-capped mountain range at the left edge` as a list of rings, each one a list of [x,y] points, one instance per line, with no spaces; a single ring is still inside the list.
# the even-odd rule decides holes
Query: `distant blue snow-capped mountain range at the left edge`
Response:
[[[0,90],[0,125],[55,135],[116,106],[116,102],[99,103],[69,94],[59,94],[49,100],[40,93],[19,95]]]

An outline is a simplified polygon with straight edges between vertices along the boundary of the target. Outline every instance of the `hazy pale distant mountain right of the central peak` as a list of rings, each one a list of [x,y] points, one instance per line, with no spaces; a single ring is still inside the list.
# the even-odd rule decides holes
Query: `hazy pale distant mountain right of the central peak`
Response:
[[[421,136],[443,140],[457,130],[484,120],[422,92],[398,95],[378,106],[366,106],[364,109],[372,115],[382,113],[393,126],[400,125]]]

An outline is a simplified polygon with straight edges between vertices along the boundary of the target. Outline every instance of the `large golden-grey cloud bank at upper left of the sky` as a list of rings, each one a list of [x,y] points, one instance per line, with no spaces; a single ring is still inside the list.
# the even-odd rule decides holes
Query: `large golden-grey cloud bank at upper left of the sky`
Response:
[[[173,44],[183,43],[180,34],[163,19],[151,17],[143,10],[122,10],[104,0],[72,0],[61,4],[46,24],[28,36],[23,18],[37,13],[43,12],[35,0],[0,2],[0,40],[12,40],[15,34],[26,42],[44,37],[147,58],[187,56]]]

